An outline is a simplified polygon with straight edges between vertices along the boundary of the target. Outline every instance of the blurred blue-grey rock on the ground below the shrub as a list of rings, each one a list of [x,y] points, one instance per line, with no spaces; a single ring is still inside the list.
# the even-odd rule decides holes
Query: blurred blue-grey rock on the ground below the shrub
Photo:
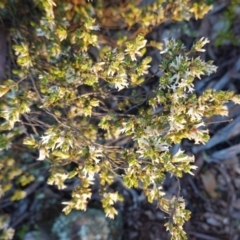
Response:
[[[53,224],[52,233],[59,240],[120,240],[122,217],[114,220],[105,217],[98,209],[72,211],[61,214]]]

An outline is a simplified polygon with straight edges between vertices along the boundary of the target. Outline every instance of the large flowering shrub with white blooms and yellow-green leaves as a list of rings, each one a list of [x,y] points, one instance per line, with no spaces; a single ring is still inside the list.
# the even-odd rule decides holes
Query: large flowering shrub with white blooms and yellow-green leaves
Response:
[[[5,1],[1,15],[14,15],[18,4]],[[196,167],[192,156],[182,150],[172,155],[170,147],[183,138],[196,144],[208,141],[204,118],[227,115],[224,103],[239,102],[239,97],[212,90],[194,93],[194,79],[216,71],[211,61],[198,56],[207,39],[190,50],[174,39],[163,44],[145,39],[153,26],[169,19],[201,18],[210,6],[158,0],[144,7],[133,2],[118,7],[121,13],[102,1],[35,0],[32,13],[24,16],[27,22],[22,18],[11,29],[16,64],[0,86],[0,154],[6,155],[20,136],[31,151],[38,151],[38,161],[50,163],[48,184],[64,189],[65,180],[78,178],[72,199],[63,203],[66,214],[74,208],[86,210],[98,175],[103,209],[114,218],[114,204],[122,196],[108,186],[121,169],[125,186],[141,188],[149,202],[156,201],[170,215],[166,228],[172,239],[186,239],[183,224],[190,212],[180,193],[165,197],[162,183],[166,172],[178,179]],[[102,36],[99,29],[110,28],[107,10],[110,16],[117,13],[130,32],[138,23],[137,33],[116,40]],[[150,93],[144,90],[152,61],[147,46],[161,54],[161,77]],[[75,167],[69,171],[70,163]],[[1,195],[10,188],[0,185]]]

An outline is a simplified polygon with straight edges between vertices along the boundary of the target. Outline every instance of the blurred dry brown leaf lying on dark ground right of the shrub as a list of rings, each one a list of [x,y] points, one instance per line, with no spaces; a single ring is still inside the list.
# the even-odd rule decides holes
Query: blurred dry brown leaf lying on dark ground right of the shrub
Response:
[[[201,174],[201,179],[206,192],[212,198],[217,198],[217,193],[215,192],[215,189],[217,187],[217,182],[214,174],[210,171],[207,171],[204,174]]]

